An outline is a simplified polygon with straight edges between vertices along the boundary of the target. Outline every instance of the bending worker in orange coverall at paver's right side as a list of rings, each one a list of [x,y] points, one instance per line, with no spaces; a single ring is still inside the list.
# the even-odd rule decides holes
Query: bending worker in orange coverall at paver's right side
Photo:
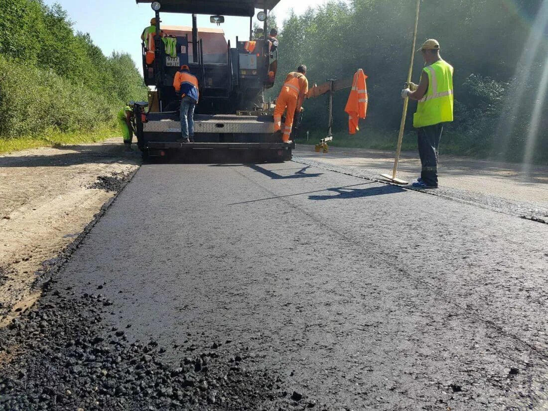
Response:
[[[282,85],[282,91],[278,95],[276,109],[274,109],[274,130],[277,132],[282,129],[282,116],[287,108],[286,124],[284,124],[282,136],[284,142],[289,141],[295,111],[301,109],[306,93],[308,93],[308,80],[304,74],[296,71],[289,73],[286,82]]]

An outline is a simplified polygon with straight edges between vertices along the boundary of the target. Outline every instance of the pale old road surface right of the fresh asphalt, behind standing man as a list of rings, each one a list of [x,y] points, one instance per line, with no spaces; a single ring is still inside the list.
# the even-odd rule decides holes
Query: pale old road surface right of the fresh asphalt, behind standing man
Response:
[[[329,147],[316,153],[313,146],[299,145],[299,162],[318,165],[372,180],[392,174],[394,153],[380,150]],[[420,175],[418,153],[401,155],[397,176],[412,183]],[[438,190],[431,194],[510,215],[548,221],[548,167],[532,165],[525,173],[522,164],[486,159],[440,157]]]

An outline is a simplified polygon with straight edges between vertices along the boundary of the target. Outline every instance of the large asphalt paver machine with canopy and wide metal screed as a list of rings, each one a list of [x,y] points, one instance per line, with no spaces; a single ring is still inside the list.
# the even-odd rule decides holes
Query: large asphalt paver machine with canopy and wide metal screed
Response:
[[[279,0],[136,0],[151,3],[156,14],[153,61],[142,43],[149,103],[135,103],[135,127],[144,158],[164,157],[172,151],[208,157],[246,153],[253,161],[288,161],[294,143],[274,133],[272,105],[265,89],[276,77],[277,50],[267,39],[267,19]],[[264,22],[253,30],[253,16]],[[161,26],[161,13],[188,14],[192,26]],[[235,47],[224,32],[198,28],[197,15],[210,15],[218,25],[225,16],[249,18],[249,38],[236,38]],[[189,19],[190,20],[190,19]],[[164,40],[164,38],[170,38]],[[171,42],[171,43],[168,43]],[[149,53],[149,59],[147,59]],[[195,142],[181,143],[180,98],[173,87],[175,73],[188,65],[198,78],[200,99],[195,114]]]

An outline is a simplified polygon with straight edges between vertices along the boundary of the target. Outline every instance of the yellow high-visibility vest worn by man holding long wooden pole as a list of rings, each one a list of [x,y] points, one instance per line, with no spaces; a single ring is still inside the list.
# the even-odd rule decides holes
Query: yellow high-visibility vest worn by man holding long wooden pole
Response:
[[[428,75],[428,90],[416,108],[413,126],[453,121],[453,66],[438,60],[423,71]]]

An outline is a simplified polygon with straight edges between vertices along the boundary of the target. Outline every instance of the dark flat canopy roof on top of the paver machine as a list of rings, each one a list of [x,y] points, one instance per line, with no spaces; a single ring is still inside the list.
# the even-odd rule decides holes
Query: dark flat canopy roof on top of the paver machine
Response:
[[[137,3],[152,3],[154,0],[135,0]],[[186,14],[220,14],[225,16],[249,16],[255,9],[273,9],[279,0],[159,0],[160,12]]]

